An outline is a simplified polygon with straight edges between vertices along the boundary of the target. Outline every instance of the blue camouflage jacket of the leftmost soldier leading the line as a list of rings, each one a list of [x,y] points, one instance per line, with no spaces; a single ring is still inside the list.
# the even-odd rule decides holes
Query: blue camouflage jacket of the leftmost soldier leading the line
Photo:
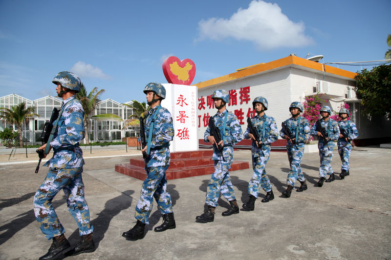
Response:
[[[68,102],[69,101],[69,102]],[[83,140],[84,128],[83,106],[75,96],[63,101],[65,109],[57,123],[53,140],[53,157],[44,166],[55,168],[78,168],[84,165],[83,150],[79,141]]]

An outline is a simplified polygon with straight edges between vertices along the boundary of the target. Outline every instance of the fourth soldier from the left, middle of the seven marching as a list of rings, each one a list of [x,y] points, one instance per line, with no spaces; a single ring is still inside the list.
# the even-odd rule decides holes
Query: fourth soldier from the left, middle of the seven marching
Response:
[[[253,101],[253,108],[257,112],[257,116],[251,119],[254,128],[258,132],[260,141],[256,141],[254,135],[250,133],[250,126],[247,126],[246,132],[243,134],[244,139],[253,140],[251,147],[251,155],[253,159],[253,177],[248,183],[249,200],[243,204],[243,211],[254,210],[255,200],[261,188],[266,192],[265,198],[261,202],[268,202],[274,199],[272,184],[266,174],[265,166],[270,156],[270,144],[278,139],[278,128],[274,118],[266,116],[268,103],[263,97],[257,97]]]

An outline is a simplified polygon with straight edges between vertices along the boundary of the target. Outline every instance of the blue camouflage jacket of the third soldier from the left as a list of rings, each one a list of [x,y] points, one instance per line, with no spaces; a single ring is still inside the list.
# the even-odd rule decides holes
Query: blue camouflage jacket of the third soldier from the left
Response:
[[[224,126],[224,117],[225,114],[227,115],[227,122],[225,125],[225,133],[223,134],[223,126]],[[228,110],[224,110],[221,114],[216,113],[216,115],[213,117],[215,120],[215,125],[220,131],[221,139],[224,137],[224,147],[222,153],[218,151],[217,146],[213,145],[213,157],[212,160],[224,160],[224,161],[231,161],[234,159],[234,148],[232,147],[234,144],[241,141],[242,136],[242,130],[239,123],[238,118],[235,116],[234,113],[228,112]],[[204,141],[209,142],[208,137],[210,136],[210,129],[209,125],[206,128],[205,134],[204,134]]]

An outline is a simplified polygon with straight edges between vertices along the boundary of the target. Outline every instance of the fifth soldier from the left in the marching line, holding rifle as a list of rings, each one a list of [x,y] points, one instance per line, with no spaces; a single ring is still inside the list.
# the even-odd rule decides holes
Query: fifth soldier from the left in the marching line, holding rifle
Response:
[[[292,102],[289,106],[289,111],[292,117],[285,120],[284,123],[290,130],[292,136],[289,138],[283,128],[280,131],[280,136],[287,140],[286,151],[290,164],[290,171],[288,173],[288,178],[286,179],[288,187],[282,192],[282,195],[287,198],[290,197],[292,190],[295,188],[297,179],[299,179],[301,185],[296,191],[302,192],[307,189],[307,183],[300,163],[302,162],[304,155],[304,141],[309,138],[310,131],[308,120],[300,116],[300,113],[303,112],[303,105],[300,102]]]

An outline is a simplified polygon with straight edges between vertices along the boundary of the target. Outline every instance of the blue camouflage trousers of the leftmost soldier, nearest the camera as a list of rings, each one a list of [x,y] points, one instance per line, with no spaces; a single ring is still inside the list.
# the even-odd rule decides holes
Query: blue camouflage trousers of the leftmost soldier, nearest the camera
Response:
[[[83,166],[79,168],[50,168],[45,180],[34,196],[34,215],[47,240],[65,232],[63,225],[54,211],[52,200],[60,190],[64,191],[66,205],[79,226],[79,235],[93,231],[89,220],[89,210],[84,198],[82,180]]]

